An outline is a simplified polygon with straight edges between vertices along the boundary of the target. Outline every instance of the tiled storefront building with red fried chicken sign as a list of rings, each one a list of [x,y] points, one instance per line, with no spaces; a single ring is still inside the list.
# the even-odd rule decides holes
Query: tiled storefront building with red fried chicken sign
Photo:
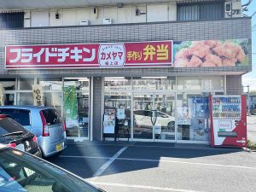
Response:
[[[0,30],[3,104],[35,104],[39,85],[70,139],[113,140],[118,128],[120,140],[209,143],[209,96],[241,95],[241,75],[252,70],[251,18],[237,13],[241,2],[231,16],[225,1],[103,2],[38,4],[41,12],[14,3],[24,22]],[[90,25],[78,26],[83,20]]]

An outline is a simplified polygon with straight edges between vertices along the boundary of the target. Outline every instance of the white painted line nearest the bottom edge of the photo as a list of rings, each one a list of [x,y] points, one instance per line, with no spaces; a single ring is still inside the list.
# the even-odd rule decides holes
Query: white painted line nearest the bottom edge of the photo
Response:
[[[90,181],[89,181],[90,182]],[[154,186],[146,185],[137,185],[137,184],[121,184],[121,183],[102,183],[102,182],[90,182],[95,185],[107,185],[114,187],[126,187],[126,188],[137,188],[137,189],[151,189],[151,190],[160,190],[160,191],[177,191],[177,192],[202,192],[198,190],[188,190],[188,189],[174,189],[174,188],[160,188]]]

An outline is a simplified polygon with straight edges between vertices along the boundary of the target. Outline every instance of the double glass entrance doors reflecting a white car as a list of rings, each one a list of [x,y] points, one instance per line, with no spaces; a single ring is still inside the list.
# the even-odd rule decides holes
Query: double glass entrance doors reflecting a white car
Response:
[[[153,125],[152,110],[156,110]],[[175,140],[175,94],[133,95],[133,138]]]

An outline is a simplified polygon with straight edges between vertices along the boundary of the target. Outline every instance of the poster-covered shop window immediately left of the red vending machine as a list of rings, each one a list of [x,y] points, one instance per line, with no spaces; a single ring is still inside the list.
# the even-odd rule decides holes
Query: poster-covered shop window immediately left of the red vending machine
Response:
[[[177,95],[177,140],[209,141],[208,93]]]

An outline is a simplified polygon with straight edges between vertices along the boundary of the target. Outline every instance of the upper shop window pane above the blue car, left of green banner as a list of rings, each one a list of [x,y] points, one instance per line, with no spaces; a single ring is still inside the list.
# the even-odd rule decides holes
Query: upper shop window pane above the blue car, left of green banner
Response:
[[[44,90],[62,90],[62,79],[38,79]]]

